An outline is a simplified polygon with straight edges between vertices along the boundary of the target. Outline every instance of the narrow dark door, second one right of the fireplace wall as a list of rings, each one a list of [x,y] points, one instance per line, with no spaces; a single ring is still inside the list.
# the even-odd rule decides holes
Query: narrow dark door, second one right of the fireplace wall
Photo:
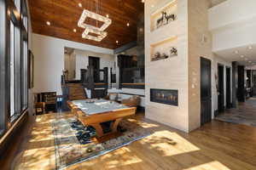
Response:
[[[218,64],[218,115],[224,112],[224,65]]]

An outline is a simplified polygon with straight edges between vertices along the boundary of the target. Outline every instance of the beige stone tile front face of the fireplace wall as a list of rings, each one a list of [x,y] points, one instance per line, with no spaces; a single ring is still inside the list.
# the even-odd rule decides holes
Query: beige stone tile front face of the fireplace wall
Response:
[[[152,31],[152,16],[160,13],[172,1],[145,1],[145,115],[155,122],[189,132],[188,0],[173,2],[177,3],[177,20]],[[178,51],[177,56],[152,61],[152,44],[166,42],[173,37],[176,37],[173,42]],[[173,46],[171,43],[164,43],[163,47],[165,45]],[[177,105],[168,105],[161,99],[152,101],[150,89],[177,90]]]

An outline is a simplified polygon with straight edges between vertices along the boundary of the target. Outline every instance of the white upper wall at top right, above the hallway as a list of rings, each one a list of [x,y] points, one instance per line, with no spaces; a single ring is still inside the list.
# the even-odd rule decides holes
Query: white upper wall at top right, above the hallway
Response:
[[[208,9],[213,52],[256,43],[255,7],[255,0],[228,0]]]

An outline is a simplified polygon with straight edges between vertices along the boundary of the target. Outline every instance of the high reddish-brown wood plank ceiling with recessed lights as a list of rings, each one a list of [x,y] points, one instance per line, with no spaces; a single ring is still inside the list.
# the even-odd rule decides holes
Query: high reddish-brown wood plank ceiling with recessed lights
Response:
[[[34,33],[111,49],[137,40],[137,19],[139,14],[143,14],[141,0],[28,0],[28,2]],[[79,3],[82,7],[79,7]],[[98,11],[97,14],[104,16],[108,14],[112,20],[112,24],[106,29],[108,37],[102,42],[82,38],[84,29],[78,27],[78,21],[84,8],[92,12]],[[47,21],[50,22],[50,26],[46,24]],[[86,23],[96,26],[96,20],[86,20]],[[127,23],[130,26],[127,26]],[[76,32],[73,31],[74,29]]]

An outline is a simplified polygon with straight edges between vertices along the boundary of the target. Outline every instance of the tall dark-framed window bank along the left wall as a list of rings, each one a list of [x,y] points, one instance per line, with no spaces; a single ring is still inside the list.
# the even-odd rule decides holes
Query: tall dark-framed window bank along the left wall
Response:
[[[26,0],[0,0],[0,137],[28,105],[27,23]]]

